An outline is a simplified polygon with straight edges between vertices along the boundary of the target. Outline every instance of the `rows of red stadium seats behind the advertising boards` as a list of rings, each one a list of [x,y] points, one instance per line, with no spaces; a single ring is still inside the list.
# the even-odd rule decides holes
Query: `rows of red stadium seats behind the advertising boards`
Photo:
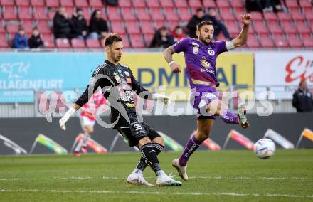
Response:
[[[247,48],[312,48],[312,1],[283,0],[282,3],[286,12],[251,12],[253,26],[249,34],[252,37]],[[43,37],[48,40],[45,41],[46,48],[101,47],[100,42],[95,41],[85,41],[84,46],[81,43],[66,43],[66,46],[57,43],[51,27],[59,6],[64,6],[69,16],[75,7],[81,7],[88,24],[92,11],[101,9],[111,31],[124,34],[129,48],[149,46],[152,34],[161,26],[171,31],[177,25],[186,26],[198,7],[216,7],[218,19],[226,24],[232,36],[236,36],[240,31],[240,14],[245,12],[244,0],[120,0],[119,4],[117,7],[106,6],[101,0],[0,0],[0,47],[9,48],[18,24],[23,25],[28,36],[33,26],[38,26],[42,34],[50,35]]]

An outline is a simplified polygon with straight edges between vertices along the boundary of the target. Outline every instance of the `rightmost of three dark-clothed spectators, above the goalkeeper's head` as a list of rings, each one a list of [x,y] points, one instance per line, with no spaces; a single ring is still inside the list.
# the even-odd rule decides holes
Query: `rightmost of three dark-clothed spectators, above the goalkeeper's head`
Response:
[[[107,28],[107,21],[102,19],[102,12],[100,10],[93,11],[89,26],[90,36],[88,38],[98,39],[105,38],[109,29]]]

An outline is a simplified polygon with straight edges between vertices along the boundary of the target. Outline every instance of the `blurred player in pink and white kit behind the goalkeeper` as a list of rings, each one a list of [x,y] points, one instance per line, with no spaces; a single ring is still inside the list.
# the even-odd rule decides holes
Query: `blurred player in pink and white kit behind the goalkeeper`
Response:
[[[83,138],[80,139],[74,149],[74,156],[79,157],[80,151],[83,154],[87,153],[87,141],[90,139],[92,132],[94,131],[93,126],[95,125],[95,115],[98,113],[105,112],[108,110],[107,102],[101,91],[95,92],[90,100],[80,108],[80,125],[83,129]]]

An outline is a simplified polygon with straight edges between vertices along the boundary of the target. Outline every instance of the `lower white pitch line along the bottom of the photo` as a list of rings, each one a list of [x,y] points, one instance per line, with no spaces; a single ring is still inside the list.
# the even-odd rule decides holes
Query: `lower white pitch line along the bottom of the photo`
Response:
[[[193,193],[193,192],[160,192],[160,191],[110,191],[110,190],[41,190],[41,189],[0,189],[0,192],[33,192],[33,193],[112,193],[112,194],[152,194],[152,195],[191,195],[191,196],[255,196],[255,197],[286,197],[286,198],[313,198],[313,195],[295,195],[295,194],[271,194],[265,195],[259,193]]]

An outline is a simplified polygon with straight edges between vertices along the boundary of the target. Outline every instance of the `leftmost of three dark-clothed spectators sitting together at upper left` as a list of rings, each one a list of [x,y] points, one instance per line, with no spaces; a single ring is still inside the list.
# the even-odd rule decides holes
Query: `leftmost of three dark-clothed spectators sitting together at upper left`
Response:
[[[70,20],[65,8],[61,7],[53,18],[53,32],[55,38],[70,38]]]

